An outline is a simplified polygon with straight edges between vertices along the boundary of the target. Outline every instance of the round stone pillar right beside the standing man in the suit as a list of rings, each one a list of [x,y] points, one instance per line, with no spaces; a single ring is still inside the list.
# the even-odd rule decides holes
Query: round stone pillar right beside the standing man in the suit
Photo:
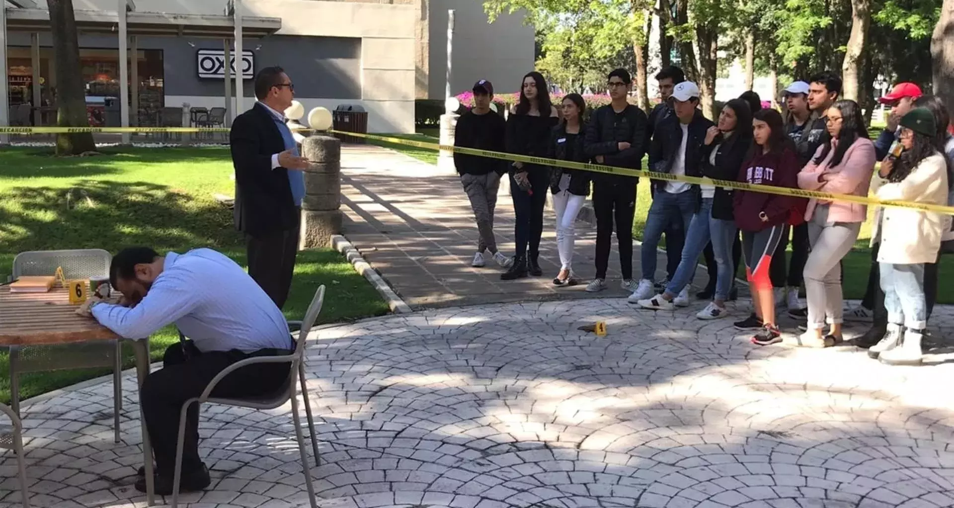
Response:
[[[301,143],[311,161],[304,172],[299,249],[329,247],[331,235],[342,233],[342,142],[316,134]]]

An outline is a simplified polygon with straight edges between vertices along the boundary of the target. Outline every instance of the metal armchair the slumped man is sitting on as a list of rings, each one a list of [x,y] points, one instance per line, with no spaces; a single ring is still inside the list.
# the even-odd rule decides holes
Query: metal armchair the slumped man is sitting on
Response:
[[[297,373],[299,376],[298,380],[301,381],[301,397],[304,399],[305,414],[308,417],[308,426],[311,432],[311,446],[315,452],[315,463],[319,464],[321,457],[319,457],[318,453],[318,435],[315,434],[315,424],[311,416],[311,404],[308,402],[308,389],[305,385],[304,348],[305,341],[308,338],[308,333],[311,331],[311,327],[315,326],[315,321],[318,319],[318,315],[321,314],[321,305],[323,303],[324,286],[321,286],[318,288],[318,291],[315,292],[315,297],[312,298],[311,305],[308,306],[308,311],[305,313],[304,319],[301,321],[301,331],[299,332],[298,339],[295,341],[294,353],[285,356],[256,356],[233,363],[225,370],[218,373],[218,376],[212,378],[212,381],[210,381],[208,386],[205,387],[205,390],[202,392],[201,396],[190,398],[189,400],[186,400],[184,404],[182,404],[182,411],[179,414],[178,440],[176,441],[176,471],[175,476],[173,477],[173,508],[178,506],[179,481],[182,477],[182,450],[185,447],[186,410],[191,404],[200,405],[209,402],[213,404],[238,406],[251,409],[275,409],[284,405],[284,403],[288,402],[289,400],[292,402],[292,421],[295,425],[295,437],[298,438],[299,453],[301,454],[301,468],[304,471],[304,482],[308,490],[308,500],[311,503],[312,508],[317,508],[315,503],[315,488],[312,485],[311,480],[311,468],[308,467],[308,457],[306,457],[304,451],[304,436],[301,434],[301,417],[299,417],[295,375]],[[297,323],[292,322],[290,324]],[[221,381],[222,378],[246,365],[252,365],[256,363],[291,363],[291,367],[288,372],[288,380],[277,393],[271,396],[258,396],[255,398],[217,398],[211,396],[212,391],[215,390],[216,385],[218,384],[218,381]]]

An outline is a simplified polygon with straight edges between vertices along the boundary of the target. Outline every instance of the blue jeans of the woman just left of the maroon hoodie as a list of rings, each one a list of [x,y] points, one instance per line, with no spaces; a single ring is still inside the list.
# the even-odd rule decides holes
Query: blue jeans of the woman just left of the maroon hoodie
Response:
[[[732,289],[733,267],[732,246],[736,239],[736,222],[720,220],[712,216],[713,200],[702,199],[699,212],[693,215],[686,234],[686,244],[682,248],[682,260],[676,269],[673,280],[666,287],[666,293],[678,295],[695,275],[699,254],[712,241],[713,254],[716,257],[716,300],[725,301]]]

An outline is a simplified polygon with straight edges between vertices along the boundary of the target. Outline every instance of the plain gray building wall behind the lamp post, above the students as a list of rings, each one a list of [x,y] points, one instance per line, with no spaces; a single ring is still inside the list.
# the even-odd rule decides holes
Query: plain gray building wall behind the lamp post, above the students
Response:
[[[521,78],[533,71],[533,28],[523,24],[522,11],[501,15],[489,24],[483,4],[477,0],[430,1],[430,98],[444,98],[448,9],[456,10],[451,93],[468,91],[480,79],[490,80],[497,92],[519,91]]]

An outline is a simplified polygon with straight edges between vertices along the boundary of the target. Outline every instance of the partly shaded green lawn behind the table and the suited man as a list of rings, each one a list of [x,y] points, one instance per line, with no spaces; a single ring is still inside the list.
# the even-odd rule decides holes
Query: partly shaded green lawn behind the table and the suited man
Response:
[[[147,245],[159,253],[211,247],[245,264],[232,211],[213,193],[232,195],[227,147],[104,149],[92,157],[57,158],[52,149],[0,152],[0,280],[23,251],[102,248],[115,253]],[[327,286],[321,323],[382,315],[384,300],[341,254],[330,249],[298,255],[285,315],[301,319],[315,290]],[[161,358],[178,338],[167,328],[152,337]],[[132,366],[132,358],[126,361]],[[22,376],[23,397],[67,386],[108,370]],[[9,363],[0,353],[0,401],[10,398]]]

